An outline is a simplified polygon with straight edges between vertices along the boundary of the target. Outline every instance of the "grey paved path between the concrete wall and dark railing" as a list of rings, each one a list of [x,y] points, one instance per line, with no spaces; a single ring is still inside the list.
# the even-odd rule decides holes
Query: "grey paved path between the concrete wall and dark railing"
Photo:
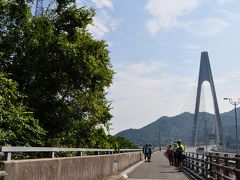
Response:
[[[152,154],[151,162],[143,162],[127,174],[128,180],[187,180],[188,178],[174,166],[170,166],[163,151]]]

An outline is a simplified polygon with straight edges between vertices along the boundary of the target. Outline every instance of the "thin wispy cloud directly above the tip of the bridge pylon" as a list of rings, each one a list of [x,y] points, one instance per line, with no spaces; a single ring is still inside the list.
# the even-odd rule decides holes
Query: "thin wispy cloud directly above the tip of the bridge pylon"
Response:
[[[202,37],[214,36],[221,33],[227,27],[229,27],[229,23],[216,18],[192,21],[184,24],[184,28],[187,31]]]

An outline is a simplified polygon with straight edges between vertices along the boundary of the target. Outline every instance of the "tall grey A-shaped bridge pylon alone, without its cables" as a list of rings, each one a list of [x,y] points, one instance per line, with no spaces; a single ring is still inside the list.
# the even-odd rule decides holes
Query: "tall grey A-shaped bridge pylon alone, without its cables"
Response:
[[[216,116],[216,131],[215,131],[216,141],[217,141],[218,145],[223,146],[223,128],[222,128],[222,122],[221,122],[221,117],[220,117],[219,108],[218,108],[218,102],[217,102],[217,96],[216,96],[215,86],[214,86],[214,82],[213,82],[211,66],[210,66],[210,62],[209,62],[209,58],[208,58],[208,52],[201,53],[191,144],[192,144],[192,146],[196,145],[199,105],[200,105],[202,83],[204,81],[208,81],[210,83],[210,87],[211,87],[214,112],[215,112],[215,116]]]

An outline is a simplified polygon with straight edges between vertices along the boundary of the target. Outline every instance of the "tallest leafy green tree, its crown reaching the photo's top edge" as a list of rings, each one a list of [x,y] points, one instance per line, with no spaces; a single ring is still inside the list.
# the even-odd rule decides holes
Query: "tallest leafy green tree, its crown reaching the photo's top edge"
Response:
[[[94,10],[57,0],[55,9],[33,17],[31,1],[0,2],[0,68],[28,96],[24,103],[47,131],[46,145],[68,144],[67,137],[73,147],[95,146],[112,117],[105,90],[113,70],[107,44],[87,31]]]

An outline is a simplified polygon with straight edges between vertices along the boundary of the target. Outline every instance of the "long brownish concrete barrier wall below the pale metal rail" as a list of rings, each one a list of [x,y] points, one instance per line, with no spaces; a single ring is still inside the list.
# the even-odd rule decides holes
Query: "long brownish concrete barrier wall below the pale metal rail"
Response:
[[[4,162],[4,180],[101,180],[141,161],[141,152]]]

